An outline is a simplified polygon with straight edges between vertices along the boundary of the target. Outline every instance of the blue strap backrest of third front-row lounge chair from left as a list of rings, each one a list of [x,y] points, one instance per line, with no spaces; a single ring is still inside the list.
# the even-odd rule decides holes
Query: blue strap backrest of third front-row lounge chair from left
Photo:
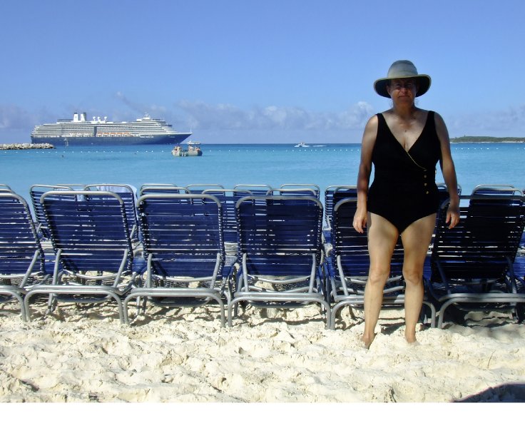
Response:
[[[144,257],[156,275],[210,276],[225,260],[223,211],[213,195],[143,195],[137,200]]]

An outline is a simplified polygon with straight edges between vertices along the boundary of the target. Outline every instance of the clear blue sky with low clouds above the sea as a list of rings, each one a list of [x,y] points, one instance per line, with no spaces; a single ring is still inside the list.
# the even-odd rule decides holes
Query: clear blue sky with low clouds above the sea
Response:
[[[203,143],[360,143],[410,59],[451,137],[525,137],[525,2],[5,0],[0,143],[75,111]]]

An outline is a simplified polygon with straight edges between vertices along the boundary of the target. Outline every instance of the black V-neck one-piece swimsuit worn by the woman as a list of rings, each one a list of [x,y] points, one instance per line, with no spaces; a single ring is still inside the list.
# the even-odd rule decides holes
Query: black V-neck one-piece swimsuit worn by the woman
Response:
[[[436,164],[441,158],[434,112],[429,111],[423,131],[409,151],[397,141],[381,113],[372,151],[374,181],[367,208],[392,223],[399,233],[419,218],[437,213],[439,195]]]

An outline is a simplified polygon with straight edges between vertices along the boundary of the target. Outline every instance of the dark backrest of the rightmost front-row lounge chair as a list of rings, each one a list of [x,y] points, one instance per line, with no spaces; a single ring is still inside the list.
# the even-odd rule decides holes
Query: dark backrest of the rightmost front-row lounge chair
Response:
[[[524,197],[519,195],[461,196],[457,226],[449,229],[440,216],[432,249],[432,281],[498,280],[514,262],[524,230]],[[448,200],[441,210],[447,209]],[[463,205],[463,204],[462,204]]]

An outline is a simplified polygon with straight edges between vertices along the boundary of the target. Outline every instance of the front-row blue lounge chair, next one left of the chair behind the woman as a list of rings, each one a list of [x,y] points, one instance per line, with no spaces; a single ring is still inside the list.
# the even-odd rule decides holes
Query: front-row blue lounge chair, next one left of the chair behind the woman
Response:
[[[330,327],[323,295],[322,204],[312,196],[246,196],[237,205],[241,264],[228,324],[240,302],[297,307],[319,303]],[[236,312],[236,311],[235,311]]]

